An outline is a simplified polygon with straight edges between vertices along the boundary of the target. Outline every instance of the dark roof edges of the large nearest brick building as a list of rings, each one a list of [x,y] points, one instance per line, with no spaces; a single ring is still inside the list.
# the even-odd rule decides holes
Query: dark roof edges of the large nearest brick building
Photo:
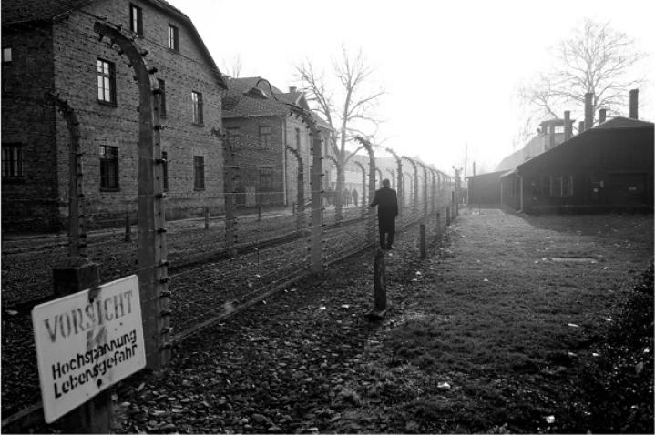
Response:
[[[87,5],[97,3],[102,0],[66,0],[66,1],[51,1],[51,0],[2,0],[2,24],[12,25],[18,23],[28,23],[35,21],[57,21],[72,12],[75,12]],[[181,23],[189,28],[191,36],[196,40],[200,46],[200,52],[205,56],[206,61],[210,64],[213,75],[216,78],[217,84],[227,89],[225,80],[220,74],[219,67],[214,62],[210,51],[205,46],[204,41],[200,37],[196,26],[189,16],[185,15],[178,8],[170,5],[165,0],[143,0],[148,2],[153,7],[158,8],[166,14],[172,15],[179,19]]]

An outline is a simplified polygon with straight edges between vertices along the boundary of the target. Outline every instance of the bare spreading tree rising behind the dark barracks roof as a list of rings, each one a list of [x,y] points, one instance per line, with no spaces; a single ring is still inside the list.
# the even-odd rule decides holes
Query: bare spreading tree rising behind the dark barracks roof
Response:
[[[585,19],[581,28],[555,47],[554,55],[553,70],[519,89],[522,100],[533,109],[530,123],[537,116],[561,116],[571,103],[584,104],[588,92],[594,94],[594,113],[597,107],[604,107],[609,114],[617,114],[628,89],[645,82],[634,74],[634,66],[646,55],[635,49],[633,39],[611,29],[609,23]]]

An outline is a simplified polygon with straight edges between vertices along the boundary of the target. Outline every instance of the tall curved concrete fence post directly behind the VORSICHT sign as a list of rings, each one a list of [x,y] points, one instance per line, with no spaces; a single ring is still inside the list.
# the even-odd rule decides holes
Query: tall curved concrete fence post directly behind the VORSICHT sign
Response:
[[[170,292],[164,212],[163,169],[159,132],[161,91],[148,67],[147,50],[137,46],[114,25],[96,22],[94,31],[107,36],[119,54],[128,57],[138,82],[138,288],[143,316],[148,369],[170,360]]]

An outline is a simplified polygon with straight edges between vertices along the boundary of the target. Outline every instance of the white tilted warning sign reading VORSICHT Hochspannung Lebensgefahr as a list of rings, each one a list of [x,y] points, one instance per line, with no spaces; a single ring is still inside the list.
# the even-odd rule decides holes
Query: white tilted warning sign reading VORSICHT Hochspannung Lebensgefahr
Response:
[[[47,423],[146,366],[136,275],[38,305],[32,323]]]

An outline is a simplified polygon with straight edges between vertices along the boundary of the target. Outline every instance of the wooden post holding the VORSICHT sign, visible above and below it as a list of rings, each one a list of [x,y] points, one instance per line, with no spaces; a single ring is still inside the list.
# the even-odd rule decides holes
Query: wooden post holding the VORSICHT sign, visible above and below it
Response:
[[[61,298],[100,285],[97,263],[88,258],[67,258],[61,268],[53,269],[56,298]],[[111,392],[105,389],[59,420],[64,432],[109,433],[112,420]]]

